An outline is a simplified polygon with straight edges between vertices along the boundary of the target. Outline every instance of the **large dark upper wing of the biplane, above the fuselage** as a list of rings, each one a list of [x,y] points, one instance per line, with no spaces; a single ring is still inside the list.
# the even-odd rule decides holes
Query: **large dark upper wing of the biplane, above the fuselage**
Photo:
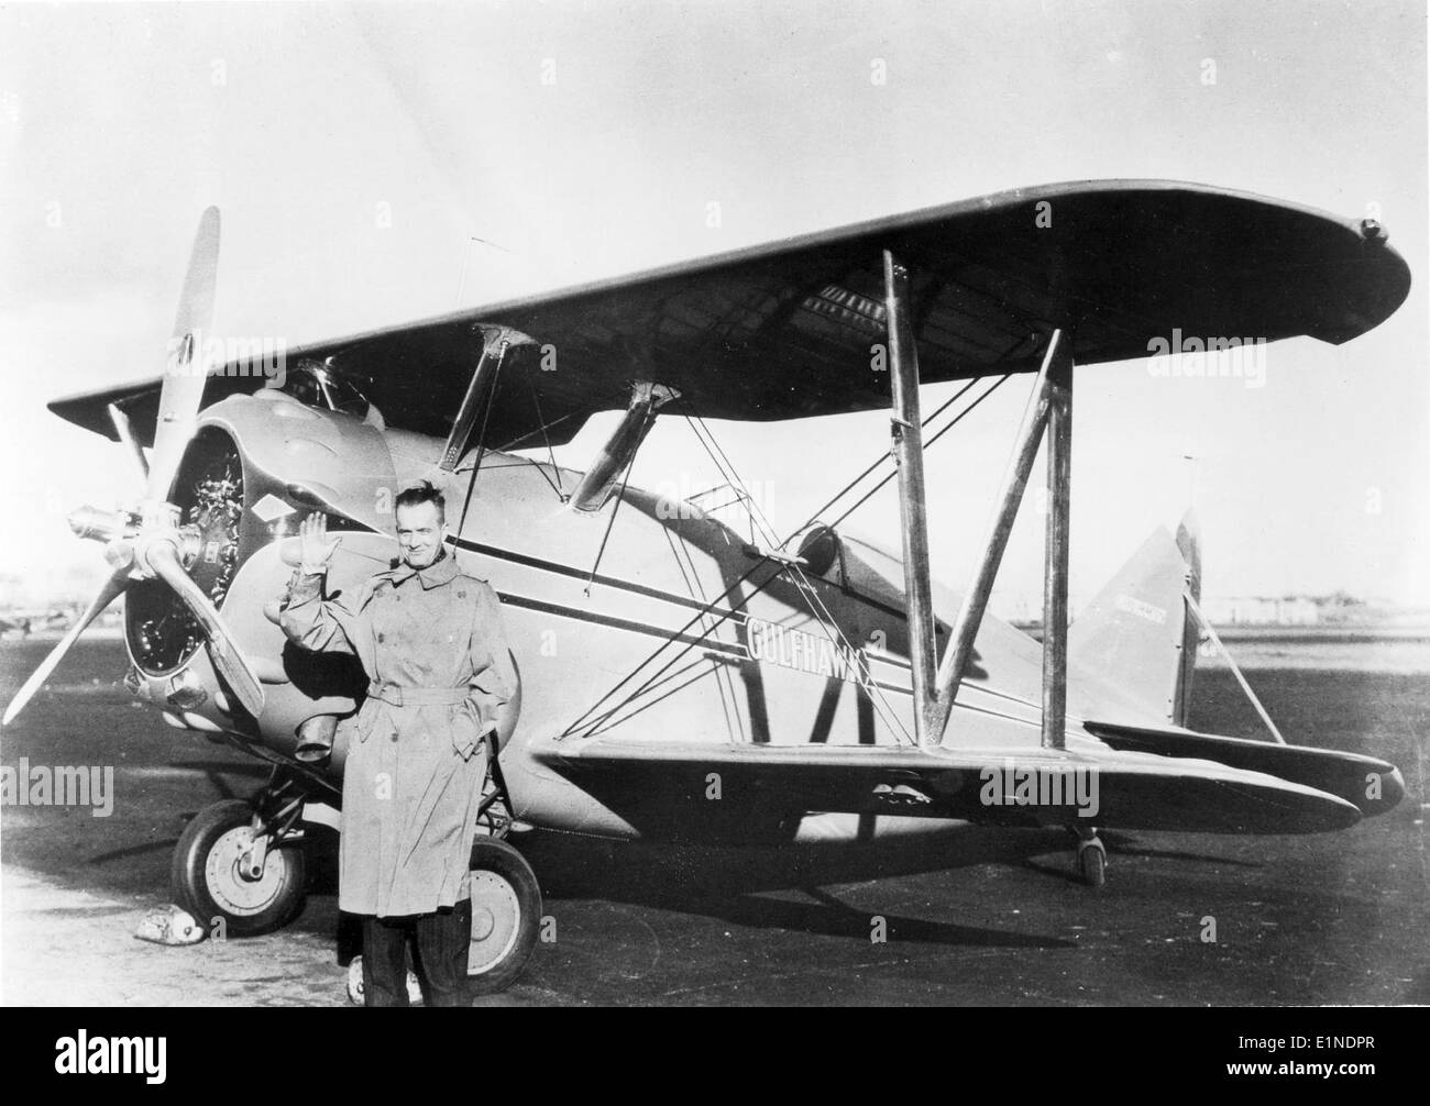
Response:
[[[475,329],[521,330],[551,347],[555,372],[532,349],[503,369],[489,422],[498,447],[531,444],[553,420],[551,440],[568,440],[592,412],[623,407],[631,380],[674,386],[682,406],[668,410],[715,419],[869,410],[888,403],[888,374],[871,370],[884,342],[884,249],[911,270],[925,383],[1035,369],[1060,326],[1084,364],[1145,357],[1173,329],[1340,343],[1384,320],[1410,287],[1374,226],[1197,184],[1083,181],[323,342],[289,362],[329,360],[370,380],[389,424],[445,436],[480,350]],[[257,383],[229,366],[209,399]],[[50,407],[113,434],[104,403],[147,429],[154,396],[147,382]]]

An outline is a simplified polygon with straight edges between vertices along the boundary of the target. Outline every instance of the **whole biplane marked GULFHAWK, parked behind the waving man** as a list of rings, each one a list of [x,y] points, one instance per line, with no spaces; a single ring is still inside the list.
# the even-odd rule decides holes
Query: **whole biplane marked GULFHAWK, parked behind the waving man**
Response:
[[[1168,181],[1022,189],[315,343],[280,374],[262,352],[204,352],[217,247],[210,209],[160,377],[50,404],[123,444],[134,500],[72,516],[113,572],[4,722],[123,596],[129,689],[272,764],[174,855],[177,902],[229,933],[299,909],[303,826],[340,829],[345,749],[322,767],[295,749],[366,686],[352,659],[279,630],[297,523],[326,516],[343,537],[329,593],[356,589],[395,556],[398,490],[423,479],[446,497],[450,550],[500,596],[521,680],[473,842],[469,963],[493,989],[542,909],[513,829],[768,845],[1065,826],[1097,885],[1104,829],[1314,833],[1403,794],[1376,757],[1188,729],[1193,524],[1153,534],[1068,624],[1074,364],[1145,359],[1174,329],[1348,342],[1410,287],[1373,220]],[[1010,380],[1030,394],[987,543],[947,590],[924,449]],[[921,384],[944,382],[952,399],[925,414]],[[888,453],[788,534],[706,422],[881,409]],[[596,412],[621,414],[589,470],[555,464]],[[702,496],[631,483],[656,419],[689,422],[748,530]],[[1035,640],[987,607],[1040,452]],[[839,530],[888,480],[898,553]]]

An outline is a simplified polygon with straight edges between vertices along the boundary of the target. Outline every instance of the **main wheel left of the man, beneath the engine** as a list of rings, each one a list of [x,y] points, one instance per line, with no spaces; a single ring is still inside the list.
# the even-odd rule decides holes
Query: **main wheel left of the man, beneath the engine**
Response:
[[[242,799],[206,806],[179,837],[170,872],[174,902],[210,933],[214,919],[233,936],[267,933],[303,905],[302,847],[269,849],[263,873],[250,879],[239,870],[239,857],[252,843],[253,807]]]

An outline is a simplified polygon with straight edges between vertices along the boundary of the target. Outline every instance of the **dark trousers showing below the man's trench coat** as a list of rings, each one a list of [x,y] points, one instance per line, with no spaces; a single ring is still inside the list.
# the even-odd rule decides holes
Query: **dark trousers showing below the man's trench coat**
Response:
[[[428,1006],[469,1006],[466,950],[472,939],[472,900],[465,897],[435,915],[363,917],[363,1005],[408,1005],[409,932],[418,939],[418,975]]]

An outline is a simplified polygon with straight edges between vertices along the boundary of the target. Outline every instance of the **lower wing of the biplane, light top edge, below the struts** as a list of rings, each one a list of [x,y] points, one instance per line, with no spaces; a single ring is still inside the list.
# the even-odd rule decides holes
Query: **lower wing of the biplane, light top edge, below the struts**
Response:
[[[1360,819],[1354,804],[1301,783],[1111,749],[919,752],[598,737],[533,753],[633,826],[659,822],[666,830],[809,812],[1203,833],[1316,833]]]

